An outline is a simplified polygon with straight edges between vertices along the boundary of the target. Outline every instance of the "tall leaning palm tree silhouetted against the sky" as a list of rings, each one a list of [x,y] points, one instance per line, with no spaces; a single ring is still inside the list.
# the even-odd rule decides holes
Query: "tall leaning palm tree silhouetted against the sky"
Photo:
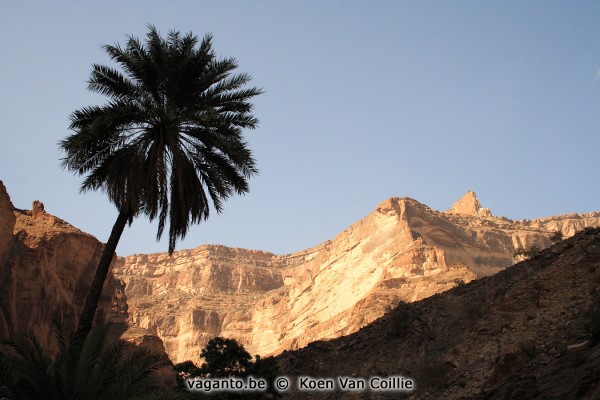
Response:
[[[88,89],[106,95],[103,106],[71,114],[75,134],[59,145],[62,166],[85,175],[81,191],[101,189],[118,210],[84,303],[78,333],[92,327],[110,263],[127,223],[143,214],[158,219],[157,240],[168,222],[169,253],[191,224],[217,212],[234,193],[248,192],[258,171],[242,129],[254,129],[247,74],[232,74],[233,58],[218,59],[212,37],[149,26],[145,45],[129,36],[125,47],[103,49],[123,70],[94,64]]]

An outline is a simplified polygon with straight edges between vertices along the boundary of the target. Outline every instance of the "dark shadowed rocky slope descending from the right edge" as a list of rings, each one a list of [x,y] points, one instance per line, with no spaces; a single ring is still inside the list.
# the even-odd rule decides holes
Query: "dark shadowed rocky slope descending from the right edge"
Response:
[[[600,339],[598,228],[278,360],[293,382],[302,375],[403,376],[417,387],[410,393],[291,391],[290,399],[591,400],[600,398],[594,330]]]

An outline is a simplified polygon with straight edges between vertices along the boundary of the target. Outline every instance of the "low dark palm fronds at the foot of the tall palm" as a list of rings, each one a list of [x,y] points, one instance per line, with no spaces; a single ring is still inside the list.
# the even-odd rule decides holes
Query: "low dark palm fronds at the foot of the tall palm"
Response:
[[[171,366],[164,353],[130,348],[117,340],[114,325],[95,326],[84,341],[64,321],[55,323],[59,352],[51,357],[32,335],[8,342],[0,353],[0,387],[13,400],[185,399],[185,393],[161,388],[153,376]]]

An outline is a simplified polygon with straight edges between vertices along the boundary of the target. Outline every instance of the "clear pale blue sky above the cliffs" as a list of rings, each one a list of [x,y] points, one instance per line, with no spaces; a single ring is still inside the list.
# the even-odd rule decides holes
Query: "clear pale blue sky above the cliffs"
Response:
[[[193,227],[288,253],[334,237],[392,196],[445,210],[474,190],[495,215],[600,210],[600,2],[0,0],[0,179],[13,203],[101,241],[116,218],[59,167],[69,114],[102,44],[152,23],[214,35],[265,94],[247,134],[251,191]],[[163,252],[134,221],[118,254]]]

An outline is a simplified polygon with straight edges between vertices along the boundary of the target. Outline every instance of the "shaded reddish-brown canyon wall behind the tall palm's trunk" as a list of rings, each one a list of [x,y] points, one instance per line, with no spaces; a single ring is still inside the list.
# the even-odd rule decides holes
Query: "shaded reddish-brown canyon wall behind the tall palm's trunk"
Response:
[[[52,319],[65,317],[74,326],[102,249],[95,237],[47,213],[40,201],[31,210],[15,208],[0,181],[0,341],[29,332],[43,348],[56,351]],[[110,273],[96,321],[126,322],[123,289]],[[162,348],[149,332],[128,328],[123,339]]]

